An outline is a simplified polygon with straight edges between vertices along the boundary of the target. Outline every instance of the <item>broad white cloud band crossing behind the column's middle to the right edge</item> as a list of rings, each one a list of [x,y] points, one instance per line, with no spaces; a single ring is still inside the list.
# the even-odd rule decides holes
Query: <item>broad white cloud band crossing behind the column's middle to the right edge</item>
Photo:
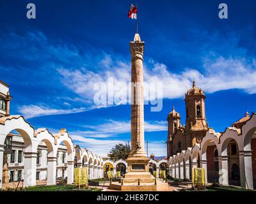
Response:
[[[154,62],[154,61],[153,61]],[[109,77],[113,77],[114,84],[123,82],[128,85],[131,81],[130,62],[114,61],[106,57],[100,64],[106,63],[104,71],[93,72],[86,68],[70,69],[61,68],[59,73],[63,78],[63,84],[73,90],[79,96],[93,103],[94,84],[108,82]],[[181,73],[172,73],[166,65],[155,62],[153,68],[144,66],[144,81],[160,82],[163,84],[163,98],[182,98],[191,87],[191,82],[196,81],[198,87],[202,87],[205,92],[216,92],[228,89],[241,89],[249,94],[256,93],[256,63],[246,61],[241,57],[228,58],[218,57],[216,59],[205,58],[204,71],[197,69],[185,69]],[[112,87],[111,87],[112,88]],[[126,87],[114,87],[115,92],[126,94]],[[145,87],[144,93],[148,92]],[[113,93],[108,92],[110,96]],[[115,95],[115,93],[114,93]]]

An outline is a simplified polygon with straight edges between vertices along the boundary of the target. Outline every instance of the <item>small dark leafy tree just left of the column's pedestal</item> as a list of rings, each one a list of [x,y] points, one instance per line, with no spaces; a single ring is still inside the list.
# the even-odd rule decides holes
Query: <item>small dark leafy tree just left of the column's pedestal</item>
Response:
[[[127,159],[129,153],[131,152],[131,148],[127,144],[117,144],[113,147],[109,152],[109,157],[114,161],[118,159]]]

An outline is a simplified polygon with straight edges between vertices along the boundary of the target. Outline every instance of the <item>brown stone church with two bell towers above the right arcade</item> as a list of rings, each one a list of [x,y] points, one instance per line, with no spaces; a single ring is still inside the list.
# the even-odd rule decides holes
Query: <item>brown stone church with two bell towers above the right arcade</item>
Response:
[[[180,153],[181,150],[193,147],[204,138],[209,125],[205,116],[205,94],[204,91],[193,86],[185,94],[186,103],[186,125],[180,125],[180,114],[173,107],[168,114],[168,140],[167,156]]]

